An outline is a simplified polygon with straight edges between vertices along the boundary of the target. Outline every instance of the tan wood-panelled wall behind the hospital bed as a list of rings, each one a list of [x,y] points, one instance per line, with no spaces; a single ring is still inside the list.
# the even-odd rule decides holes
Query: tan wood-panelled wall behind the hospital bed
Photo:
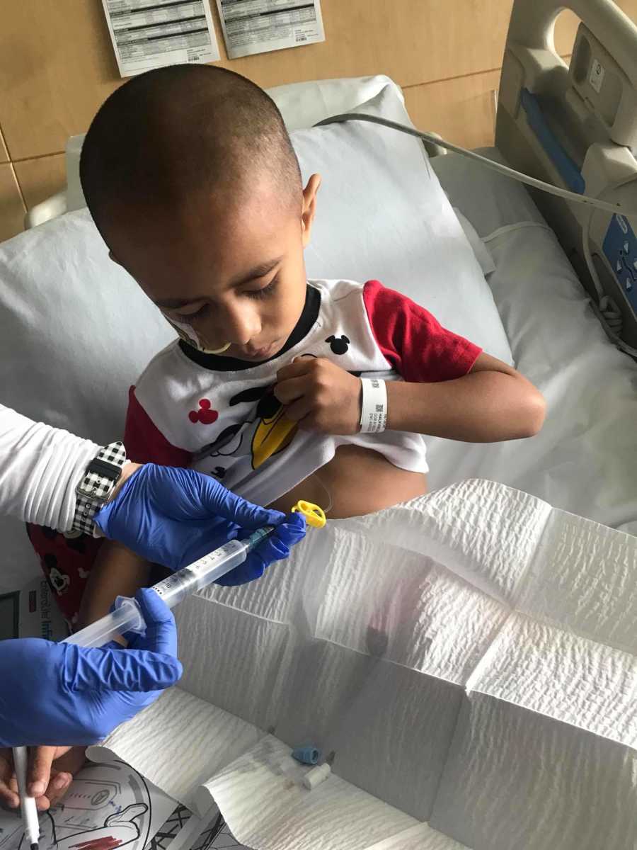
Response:
[[[204,0],[208,2],[208,0]],[[528,0],[533,2],[533,0]],[[619,0],[637,20],[637,0]],[[228,60],[263,87],[385,73],[417,126],[476,147],[493,141],[495,94],[512,0],[322,0],[326,41]],[[555,43],[570,54],[577,19]],[[121,83],[100,0],[20,0],[0,8],[0,240],[63,187],[64,148]]]

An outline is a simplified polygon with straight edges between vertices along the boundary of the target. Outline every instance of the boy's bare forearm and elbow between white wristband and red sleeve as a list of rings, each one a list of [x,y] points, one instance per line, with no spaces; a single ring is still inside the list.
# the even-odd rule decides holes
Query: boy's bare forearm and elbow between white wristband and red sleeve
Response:
[[[494,443],[533,437],[544,422],[544,398],[512,366],[480,354],[464,377],[435,383],[390,381],[387,428]]]

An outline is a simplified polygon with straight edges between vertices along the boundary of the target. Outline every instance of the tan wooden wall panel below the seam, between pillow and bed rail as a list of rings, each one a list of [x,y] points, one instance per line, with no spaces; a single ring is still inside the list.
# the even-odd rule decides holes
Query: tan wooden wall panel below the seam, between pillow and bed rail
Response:
[[[416,127],[467,148],[493,144],[499,71],[430,82],[404,90]]]

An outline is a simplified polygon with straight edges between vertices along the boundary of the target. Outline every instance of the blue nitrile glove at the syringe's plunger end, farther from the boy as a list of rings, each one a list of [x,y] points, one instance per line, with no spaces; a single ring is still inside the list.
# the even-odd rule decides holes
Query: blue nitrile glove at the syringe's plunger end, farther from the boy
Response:
[[[93,744],[178,681],[177,628],[155,591],[138,591],[144,636],[128,649],[42,638],[0,642],[0,746]]]

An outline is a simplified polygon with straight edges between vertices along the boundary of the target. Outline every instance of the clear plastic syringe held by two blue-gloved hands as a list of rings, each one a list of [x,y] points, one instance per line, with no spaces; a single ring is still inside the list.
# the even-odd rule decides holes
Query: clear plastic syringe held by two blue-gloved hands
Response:
[[[169,575],[163,581],[158,581],[151,588],[164,600],[168,608],[173,608],[183,598],[191,593],[217,581],[234,567],[243,564],[248,553],[257,547],[265,537],[272,534],[273,525],[265,525],[262,529],[253,531],[245,540],[231,540],[214,552],[204,555],[194,564],[189,564]],[[104,615],[99,620],[83,628],[80,632],[66,638],[63,643],[76,643],[78,646],[104,646],[110,640],[124,632],[144,632],[146,623],[136,599],[118,596],[116,609]]]

